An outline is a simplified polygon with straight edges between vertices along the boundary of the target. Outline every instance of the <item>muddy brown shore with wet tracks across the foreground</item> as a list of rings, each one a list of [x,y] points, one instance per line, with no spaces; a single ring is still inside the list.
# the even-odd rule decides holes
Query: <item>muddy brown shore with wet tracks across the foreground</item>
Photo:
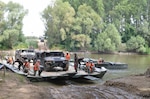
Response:
[[[59,82],[56,81],[56,82]],[[55,83],[55,82],[53,82]],[[40,84],[11,71],[0,71],[0,99],[149,99],[150,77],[131,75],[103,85]]]

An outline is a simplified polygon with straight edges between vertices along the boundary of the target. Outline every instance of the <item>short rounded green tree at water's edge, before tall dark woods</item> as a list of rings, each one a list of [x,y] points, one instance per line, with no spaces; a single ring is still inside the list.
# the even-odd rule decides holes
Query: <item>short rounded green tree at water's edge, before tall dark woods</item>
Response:
[[[98,34],[95,47],[98,51],[111,52],[118,50],[121,36],[113,24],[108,24],[104,32]]]

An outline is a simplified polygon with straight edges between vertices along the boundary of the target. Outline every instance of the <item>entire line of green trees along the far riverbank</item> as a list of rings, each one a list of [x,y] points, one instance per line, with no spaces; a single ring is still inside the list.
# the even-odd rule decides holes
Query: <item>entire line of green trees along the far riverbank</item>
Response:
[[[0,1],[1,49],[31,44],[22,33],[27,14],[17,3]],[[56,0],[41,17],[50,49],[150,53],[149,0]]]

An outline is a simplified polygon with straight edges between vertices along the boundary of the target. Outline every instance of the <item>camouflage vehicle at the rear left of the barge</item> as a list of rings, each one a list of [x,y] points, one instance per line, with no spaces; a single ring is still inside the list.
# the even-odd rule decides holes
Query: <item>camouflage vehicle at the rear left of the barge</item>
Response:
[[[35,59],[35,51],[34,49],[20,49],[15,52],[15,60],[28,60],[31,61]]]

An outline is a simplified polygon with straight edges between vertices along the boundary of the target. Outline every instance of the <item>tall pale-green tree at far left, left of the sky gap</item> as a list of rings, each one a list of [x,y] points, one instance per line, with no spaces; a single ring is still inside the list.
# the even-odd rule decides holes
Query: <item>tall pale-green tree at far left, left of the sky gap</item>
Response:
[[[23,41],[22,26],[23,18],[27,14],[23,6],[8,2],[2,9],[2,30],[0,33],[0,44],[6,48],[12,49],[18,42]]]

